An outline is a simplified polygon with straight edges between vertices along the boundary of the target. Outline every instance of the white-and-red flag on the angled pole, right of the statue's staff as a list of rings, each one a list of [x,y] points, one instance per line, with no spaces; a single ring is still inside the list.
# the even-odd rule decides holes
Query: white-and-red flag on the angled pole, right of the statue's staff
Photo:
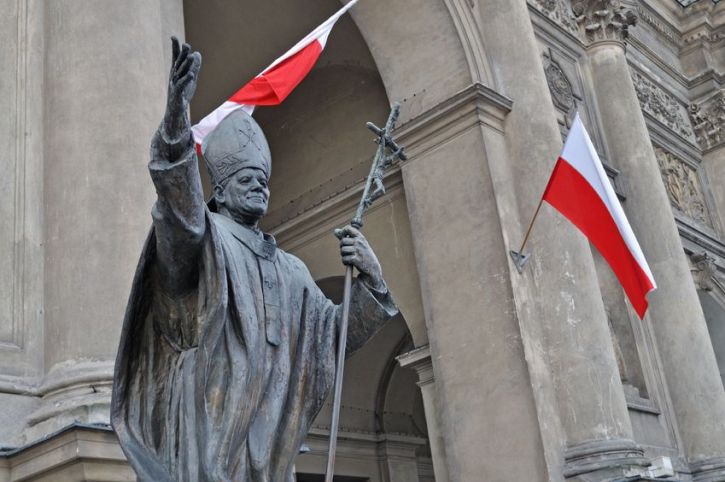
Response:
[[[644,318],[646,295],[657,285],[579,114],[544,200],[589,238],[611,266],[637,315]]]

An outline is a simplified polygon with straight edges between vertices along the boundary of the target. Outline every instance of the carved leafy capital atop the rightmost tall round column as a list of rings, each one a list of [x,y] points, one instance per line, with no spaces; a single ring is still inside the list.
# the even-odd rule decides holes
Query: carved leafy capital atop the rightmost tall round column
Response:
[[[629,27],[637,23],[635,12],[625,8],[621,0],[573,0],[571,8],[584,40],[590,43],[624,41]]]

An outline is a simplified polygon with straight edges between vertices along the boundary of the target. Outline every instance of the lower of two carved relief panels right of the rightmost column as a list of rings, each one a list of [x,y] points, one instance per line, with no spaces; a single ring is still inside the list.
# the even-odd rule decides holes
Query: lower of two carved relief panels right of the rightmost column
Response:
[[[690,218],[712,225],[695,168],[661,147],[655,147],[655,155],[672,205]]]

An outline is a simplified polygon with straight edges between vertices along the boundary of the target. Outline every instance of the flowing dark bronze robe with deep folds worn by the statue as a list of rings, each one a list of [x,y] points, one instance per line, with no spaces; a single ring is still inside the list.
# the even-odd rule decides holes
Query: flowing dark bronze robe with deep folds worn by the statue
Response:
[[[292,482],[331,391],[341,307],[274,239],[212,213],[197,158],[152,145],[158,199],[121,334],[111,420],[141,481]],[[348,353],[392,316],[353,283]]]

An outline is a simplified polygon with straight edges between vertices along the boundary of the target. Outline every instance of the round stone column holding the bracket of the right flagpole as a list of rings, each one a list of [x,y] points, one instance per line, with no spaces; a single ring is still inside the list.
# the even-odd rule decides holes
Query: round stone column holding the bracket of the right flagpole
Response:
[[[527,2],[476,5],[497,89],[513,100],[504,144],[496,146],[487,131],[484,136],[505,249],[518,249],[562,140]],[[633,441],[591,250],[576,228],[547,206],[529,242],[533,256],[526,270],[519,275],[509,264],[507,275],[549,480],[621,476],[625,467],[644,462],[643,452]]]

